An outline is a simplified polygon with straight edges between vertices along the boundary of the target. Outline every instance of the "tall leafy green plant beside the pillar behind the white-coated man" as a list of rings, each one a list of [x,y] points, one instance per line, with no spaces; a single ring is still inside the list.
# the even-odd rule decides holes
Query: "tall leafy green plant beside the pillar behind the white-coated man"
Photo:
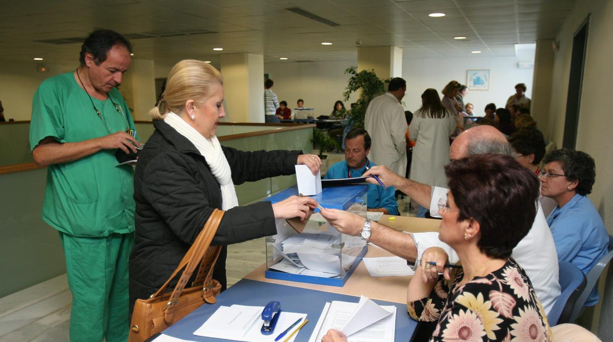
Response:
[[[352,75],[343,92],[345,101],[349,100],[353,92],[360,91],[359,99],[356,103],[352,103],[349,124],[352,128],[364,128],[364,116],[368,103],[385,92],[385,82],[378,78],[375,70],[372,69],[357,72],[357,67],[349,67],[345,73]]]

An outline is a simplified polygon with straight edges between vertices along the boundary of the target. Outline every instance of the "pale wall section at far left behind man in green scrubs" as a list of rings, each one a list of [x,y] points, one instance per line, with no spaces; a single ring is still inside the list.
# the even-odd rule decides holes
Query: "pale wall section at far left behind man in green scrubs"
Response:
[[[48,72],[38,72],[36,62],[0,63],[0,101],[7,121],[27,121],[32,116],[32,96],[42,81],[77,69],[75,65],[44,64]]]

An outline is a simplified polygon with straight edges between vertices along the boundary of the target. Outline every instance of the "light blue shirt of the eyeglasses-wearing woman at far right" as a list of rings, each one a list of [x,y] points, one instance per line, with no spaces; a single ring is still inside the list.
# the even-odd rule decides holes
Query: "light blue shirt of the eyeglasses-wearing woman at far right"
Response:
[[[587,275],[609,251],[609,234],[594,204],[586,196],[576,194],[562,208],[555,207],[547,217],[554,236],[558,259],[571,262]],[[585,305],[598,302],[598,291],[590,294]]]

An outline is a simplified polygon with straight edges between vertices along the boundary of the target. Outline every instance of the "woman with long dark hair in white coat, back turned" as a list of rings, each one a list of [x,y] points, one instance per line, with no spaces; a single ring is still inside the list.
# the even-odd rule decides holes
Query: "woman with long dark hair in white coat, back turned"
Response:
[[[449,136],[455,131],[455,117],[443,106],[436,89],[422,94],[422,106],[413,115],[409,139],[415,141],[411,161],[411,179],[437,187],[446,187],[443,167],[449,164]],[[417,217],[428,209],[419,206]]]

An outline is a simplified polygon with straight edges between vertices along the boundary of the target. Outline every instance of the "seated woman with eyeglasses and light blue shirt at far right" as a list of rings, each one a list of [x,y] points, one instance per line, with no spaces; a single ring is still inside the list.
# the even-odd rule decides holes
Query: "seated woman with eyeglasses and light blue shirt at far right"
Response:
[[[587,275],[609,250],[609,234],[603,219],[587,195],[596,179],[594,159],[585,152],[559,149],[543,158],[541,194],[557,206],[547,217],[558,259],[569,261]],[[598,302],[598,291],[586,306]]]

